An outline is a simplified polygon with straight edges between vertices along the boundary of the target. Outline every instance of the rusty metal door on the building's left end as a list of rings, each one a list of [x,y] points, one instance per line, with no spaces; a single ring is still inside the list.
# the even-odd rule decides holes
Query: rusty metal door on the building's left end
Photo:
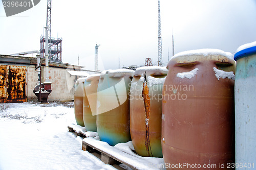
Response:
[[[26,67],[0,65],[0,103],[27,102]]]

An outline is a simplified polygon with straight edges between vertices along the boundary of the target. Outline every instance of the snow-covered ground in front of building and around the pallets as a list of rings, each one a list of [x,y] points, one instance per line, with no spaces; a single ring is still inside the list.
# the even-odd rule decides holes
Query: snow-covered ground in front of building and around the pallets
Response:
[[[33,102],[0,104],[0,170],[116,169],[88,151],[81,150],[82,138],[68,130],[68,125],[76,125],[73,105]],[[98,136],[95,138],[98,139]],[[105,144],[103,142],[102,146]],[[129,149],[133,148],[131,141],[115,147],[120,152],[123,150],[141,161],[150,162],[152,168],[146,168],[148,170],[164,164],[162,158],[135,155]],[[124,164],[120,166],[131,169]]]

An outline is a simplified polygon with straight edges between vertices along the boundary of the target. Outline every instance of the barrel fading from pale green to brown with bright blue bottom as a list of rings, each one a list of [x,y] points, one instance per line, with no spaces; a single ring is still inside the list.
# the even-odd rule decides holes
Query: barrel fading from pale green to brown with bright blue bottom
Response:
[[[97,130],[101,141],[115,145],[131,140],[129,91],[134,70],[105,70],[97,90]]]

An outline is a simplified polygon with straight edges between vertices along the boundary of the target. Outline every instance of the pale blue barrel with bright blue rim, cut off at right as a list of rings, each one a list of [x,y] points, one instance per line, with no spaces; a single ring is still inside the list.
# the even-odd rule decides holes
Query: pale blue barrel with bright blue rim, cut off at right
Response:
[[[234,99],[236,110],[236,163],[239,169],[256,167],[256,41],[240,46]],[[241,166],[242,165],[242,166]]]

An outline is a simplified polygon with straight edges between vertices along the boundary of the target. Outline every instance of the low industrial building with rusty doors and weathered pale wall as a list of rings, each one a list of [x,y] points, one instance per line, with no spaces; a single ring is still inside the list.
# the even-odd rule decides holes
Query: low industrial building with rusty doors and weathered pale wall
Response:
[[[41,81],[44,82],[45,58],[41,60]],[[37,100],[33,90],[38,85],[37,58],[0,55],[0,103]],[[52,92],[48,101],[74,100],[74,84],[80,77],[99,71],[81,70],[82,66],[49,61]]]

